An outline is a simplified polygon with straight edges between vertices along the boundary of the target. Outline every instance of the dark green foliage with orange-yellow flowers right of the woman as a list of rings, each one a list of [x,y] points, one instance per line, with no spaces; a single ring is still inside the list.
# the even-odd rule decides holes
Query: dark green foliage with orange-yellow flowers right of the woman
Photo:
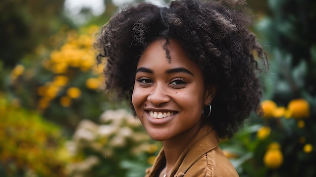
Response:
[[[263,117],[223,143],[240,176],[315,176],[315,2],[269,1],[256,30],[267,46]],[[238,151],[236,152],[236,149]]]

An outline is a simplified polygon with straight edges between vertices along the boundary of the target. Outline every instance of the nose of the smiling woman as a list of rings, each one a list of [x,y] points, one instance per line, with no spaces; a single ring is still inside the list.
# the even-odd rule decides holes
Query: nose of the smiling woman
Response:
[[[164,88],[164,86],[160,84],[156,85],[152,92],[148,95],[147,100],[155,106],[169,102],[170,97],[167,94],[167,88]]]

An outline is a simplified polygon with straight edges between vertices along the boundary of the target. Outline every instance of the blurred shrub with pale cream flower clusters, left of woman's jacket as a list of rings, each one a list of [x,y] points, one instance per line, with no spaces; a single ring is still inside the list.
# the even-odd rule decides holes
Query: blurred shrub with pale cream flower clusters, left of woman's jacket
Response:
[[[144,176],[161,144],[125,109],[107,110],[99,124],[82,120],[67,143],[70,176]]]

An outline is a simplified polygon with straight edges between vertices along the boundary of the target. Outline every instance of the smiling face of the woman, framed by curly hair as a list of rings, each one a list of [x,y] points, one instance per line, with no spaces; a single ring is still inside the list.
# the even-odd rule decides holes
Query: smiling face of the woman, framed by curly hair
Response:
[[[203,105],[211,101],[214,89],[205,89],[201,70],[175,40],[168,46],[169,62],[164,43],[153,41],[140,56],[133,106],[152,139],[191,138],[201,126]]]

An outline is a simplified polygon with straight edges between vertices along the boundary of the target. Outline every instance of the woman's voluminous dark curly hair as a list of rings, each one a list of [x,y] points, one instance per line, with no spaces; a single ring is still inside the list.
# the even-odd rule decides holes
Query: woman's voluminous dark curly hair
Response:
[[[260,110],[262,90],[256,71],[269,62],[256,36],[247,28],[246,4],[231,1],[173,1],[170,7],[149,3],[129,6],[102,27],[94,42],[97,60],[106,57],[107,90],[131,101],[135,71],[150,42],[176,39],[201,69],[205,84],[218,86],[212,101],[213,125],[220,138],[230,138],[252,111]],[[132,104],[131,104],[132,106]]]

